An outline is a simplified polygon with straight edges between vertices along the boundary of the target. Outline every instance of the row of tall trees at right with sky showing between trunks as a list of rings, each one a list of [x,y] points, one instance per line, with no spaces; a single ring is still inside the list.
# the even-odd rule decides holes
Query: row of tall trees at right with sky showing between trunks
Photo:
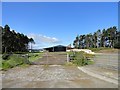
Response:
[[[120,31],[116,26],[108,29],[97,30],[86,35],[77,35],[73,41],[73,46],[78,49],[83,48],[120,48]]]

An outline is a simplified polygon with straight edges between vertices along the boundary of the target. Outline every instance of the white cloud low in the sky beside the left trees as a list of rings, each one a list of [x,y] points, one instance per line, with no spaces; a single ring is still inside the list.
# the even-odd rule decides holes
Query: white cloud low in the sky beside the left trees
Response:
[[[55,37],[49,37],[46,35],[41,34],[28,34],[29,38],[33,38],[35,41],[35,45],[33,45],[33,48],[44,48],[49,47],[52,45],[59,44],[61,41]]]

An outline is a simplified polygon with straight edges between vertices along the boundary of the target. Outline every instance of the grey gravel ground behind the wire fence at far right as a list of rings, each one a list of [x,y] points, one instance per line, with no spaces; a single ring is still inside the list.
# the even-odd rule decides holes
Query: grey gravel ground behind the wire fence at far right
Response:
[[[111,53],[111,54],[96,54],[94,61],[94,66],[99,66],[105,69],[111,69],[118,71],[118,53]]]

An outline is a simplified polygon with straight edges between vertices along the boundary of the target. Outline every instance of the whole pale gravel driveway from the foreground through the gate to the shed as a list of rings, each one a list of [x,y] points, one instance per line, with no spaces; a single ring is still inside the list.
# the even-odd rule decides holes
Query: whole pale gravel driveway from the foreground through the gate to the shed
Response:
[[[117,88],[116,84],[89,76],[75,66],[65,66],[62,55],[65,54],[44,54],[43,59],[35,62],[37,65],[3,72],[3,88]]]

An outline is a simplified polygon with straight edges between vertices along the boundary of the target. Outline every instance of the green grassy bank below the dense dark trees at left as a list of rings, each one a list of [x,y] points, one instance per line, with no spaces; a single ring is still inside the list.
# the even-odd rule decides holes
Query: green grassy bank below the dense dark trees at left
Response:
[[[38,60],[42,57],[42,53],[29,53],[29,54],[11,54],[3,55],[4,59],[1,60],[2,70],[7,70],[16,66],[28,66],[31,62]]]

